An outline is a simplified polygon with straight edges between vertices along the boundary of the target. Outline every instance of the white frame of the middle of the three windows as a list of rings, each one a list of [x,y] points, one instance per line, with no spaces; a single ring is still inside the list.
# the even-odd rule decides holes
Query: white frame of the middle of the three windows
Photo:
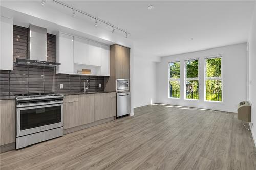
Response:
[[[195,60],[198,60],[198,77],[197,78],[187,78],[187,61],[195,61]],[[193,59],[185,59],[184,60],[184,100],[193,100],[193,101],[199,101],[200,100],[200,95],[199,95],[199,58],[193,58]],[[197,80],[198,81],[198,99],[189,99],[189,98],[186,98],[186,81],[189,81],[189,80]]]

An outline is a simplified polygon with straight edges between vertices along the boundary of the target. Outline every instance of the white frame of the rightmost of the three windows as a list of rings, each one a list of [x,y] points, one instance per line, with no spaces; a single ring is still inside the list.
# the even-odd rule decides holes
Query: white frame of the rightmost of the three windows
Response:
[[[213,59],[213,58],[221,58],[221,77],[207,77],[206,60],[207,59]],[[223,100],[223,87],[224,87],[224,82],[223,82],[223,63],[224,62],[223,61],[224,61],[223,54],[204,57],[204,102],[223,103],[223,101],[224,101]],[[221,82],[222,82],[222,86],[221,86],[221,101],[206,100],[206,81],[207,80],[221,80]]]

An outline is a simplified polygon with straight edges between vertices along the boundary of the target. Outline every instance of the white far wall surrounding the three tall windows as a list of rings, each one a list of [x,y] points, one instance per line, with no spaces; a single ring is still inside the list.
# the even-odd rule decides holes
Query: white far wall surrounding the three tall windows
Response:
[[[223,55],[223,102],[205,102],[204,58],[218,54]],[[194,58],[199,58],[199,100],[185,100],[184,97],[168,98],[168,62],[181,61],[181,89],[184,89],[184,60]],[[163,57],[157,65],[157,102],[237,112],[238,103],[247,98],[246,63],[246,43]],[[184,96],[183,90],[181,90],[181,96]]]

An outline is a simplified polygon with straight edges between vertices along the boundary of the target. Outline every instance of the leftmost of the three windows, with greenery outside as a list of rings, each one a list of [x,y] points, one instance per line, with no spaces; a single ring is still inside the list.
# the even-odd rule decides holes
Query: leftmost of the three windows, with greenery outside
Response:
[[[180,98],[180,61],[169,63],[169,97]]]

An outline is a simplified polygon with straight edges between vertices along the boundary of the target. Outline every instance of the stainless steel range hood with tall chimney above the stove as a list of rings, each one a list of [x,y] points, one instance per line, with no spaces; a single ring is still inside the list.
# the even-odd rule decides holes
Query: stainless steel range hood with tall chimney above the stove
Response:
[[[15,64],[54,67],[60,63],[47,61],[46,28],[29,25],[29,59],[16,59]]]

